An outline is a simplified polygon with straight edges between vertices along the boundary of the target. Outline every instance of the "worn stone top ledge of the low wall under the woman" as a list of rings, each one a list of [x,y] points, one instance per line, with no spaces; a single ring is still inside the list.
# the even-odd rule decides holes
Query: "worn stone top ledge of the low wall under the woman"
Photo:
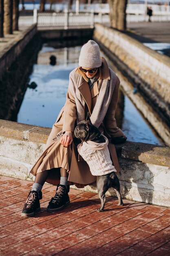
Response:
[[[45,144],[51,128],[20,124],[0,119],[0,136]],[[115,145],[118,156],[146,164],[170,167],[170,147],[126,141]]]

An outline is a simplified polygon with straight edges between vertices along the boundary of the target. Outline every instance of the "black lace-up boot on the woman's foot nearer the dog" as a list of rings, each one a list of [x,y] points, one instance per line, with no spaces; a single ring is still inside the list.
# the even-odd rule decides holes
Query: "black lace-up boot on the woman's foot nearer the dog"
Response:
[[[47,211],[59,211],[70,204],[70,199],[68,196],[68,192],[70,190],[70,186],[64,186],[61,184],[57,185],[57,189],[55,192],[55,196],[51,198],[49,205],[47,207]]]

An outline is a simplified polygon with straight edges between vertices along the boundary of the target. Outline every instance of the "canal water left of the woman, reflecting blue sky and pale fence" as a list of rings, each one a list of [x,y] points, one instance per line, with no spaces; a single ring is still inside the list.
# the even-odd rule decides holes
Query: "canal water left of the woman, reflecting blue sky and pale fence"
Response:
[[[44,44],[30,76],[30,82],[38,87],[27,89],[18,122],[52,127],[66,101],[69,74],[78,65],[80,49],[79,46],[54,49]],[[51,56],[55,56],[56,65],[51,65]]]

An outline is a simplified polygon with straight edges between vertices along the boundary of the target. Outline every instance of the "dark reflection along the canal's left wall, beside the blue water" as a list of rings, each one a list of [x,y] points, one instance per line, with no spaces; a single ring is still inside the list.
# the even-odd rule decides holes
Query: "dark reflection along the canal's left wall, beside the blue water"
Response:
[[[29,83],[29,75],[41,46],[37,33],[0,80],[0,119],[16,121],[27,87],[35,88],[35,84]]]

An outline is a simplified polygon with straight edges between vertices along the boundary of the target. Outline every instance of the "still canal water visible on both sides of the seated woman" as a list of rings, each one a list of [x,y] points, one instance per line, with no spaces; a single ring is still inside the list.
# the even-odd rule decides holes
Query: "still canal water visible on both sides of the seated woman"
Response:
[[[78,66],[81,46],[55,48],[45,43],[38,54],[18,122],[52,127],[66,101],[69,73]],[[120,93],[122,94],[122,93]],[[128,140],[163,144],[126,95],[119,99],[119,127]]]

